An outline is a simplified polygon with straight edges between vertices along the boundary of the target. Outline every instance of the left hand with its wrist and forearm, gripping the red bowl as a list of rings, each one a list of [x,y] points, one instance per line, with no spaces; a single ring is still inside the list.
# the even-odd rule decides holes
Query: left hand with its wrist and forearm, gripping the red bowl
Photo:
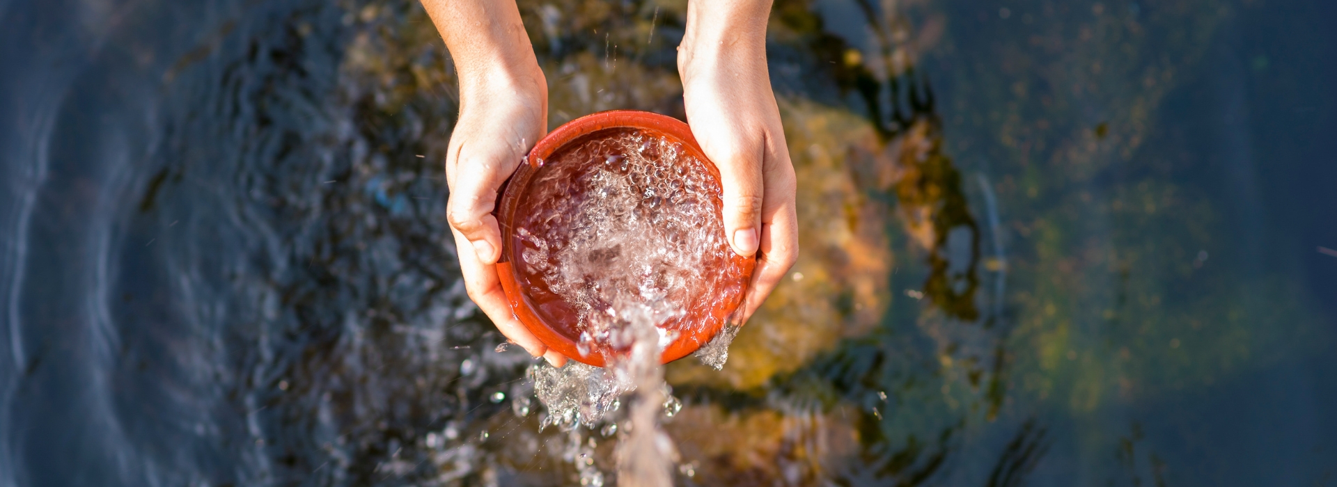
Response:
[[[511,311],[496,270],[501,231],[492,216],[501,183],[547,133],[547,80],[513,1],[425,0],[422,5],[460,73],[460,119],[447,149],[445,180],[447,219],[464,288],[501,335],[562,367],[567,358],[548,350]]]

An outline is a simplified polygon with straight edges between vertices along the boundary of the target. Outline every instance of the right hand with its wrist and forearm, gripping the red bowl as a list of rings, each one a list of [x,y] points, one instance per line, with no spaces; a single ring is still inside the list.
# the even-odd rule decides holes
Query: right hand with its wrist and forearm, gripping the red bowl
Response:
[[[770,1],[693,1],[678,47],[687,123],[723,185],[725,235],[757,255],[746,322],[798,258],[794,165],[766,71]]]

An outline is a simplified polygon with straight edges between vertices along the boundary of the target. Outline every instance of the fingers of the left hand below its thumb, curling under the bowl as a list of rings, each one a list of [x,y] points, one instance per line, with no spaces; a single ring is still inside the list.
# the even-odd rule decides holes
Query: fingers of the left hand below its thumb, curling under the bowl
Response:
[[[456,248],[469,244],[464,233],[459,231],[452,231],[452,233],[455,235]],[[533,336],[511,311],[511,303],[501,290],[501,280],[497,279],[496,266],[484,264],[472,252],[456,254],[460,256],[460,274],[464,275],[464,290],[468,291],[469,299],[479,306],[479,310],[483,310],[483,314],[492,319],[492,324],[496,324],[497,331],[529,352],[531,356],[543,356],[547,354],[548,346],[543,344],[537,336]]]

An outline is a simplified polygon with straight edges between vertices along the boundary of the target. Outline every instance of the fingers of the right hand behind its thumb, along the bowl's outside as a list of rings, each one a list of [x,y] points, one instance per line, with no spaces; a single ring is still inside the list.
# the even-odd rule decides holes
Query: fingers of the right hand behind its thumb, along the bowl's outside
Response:
[[[767,164],[766,200],[762,207],[761,254],[743,298],[746,322],[798,259],[798,215],[796,207],[794,168],[781,147]]]

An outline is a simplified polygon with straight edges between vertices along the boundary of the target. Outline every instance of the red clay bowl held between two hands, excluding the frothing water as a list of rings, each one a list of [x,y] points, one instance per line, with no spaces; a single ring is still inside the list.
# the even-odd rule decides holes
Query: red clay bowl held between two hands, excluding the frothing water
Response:
[[[644,136],[663,137],[671,143],[681,144],[682,153],[697,157],[697,160],[703,163],[701,165],[705,167],[714,183],[718,184],[719,171],[701,152],[701,145],[691,136],[691,129],[687,124],[658,113],[608,111],[572,120],[558,127],[558,129],[548,133],[543,140],[539,140],[533,149],[529,151],[528,157],[525,157],[525,163],[520,164],[503,187],[501,200],[496,209],[503,243],[497,274],[501,278],[501,288],[511,302],[511,310],[515,312],[515,316],[550,348],[571,359],[596,367],[604,366],[606,354],[612,355],[618,352],[608,347],[596,347],[590,350],[587,355],[580,354],[576,347],[582,332],[582,330],[578,330],[578,315],[570,306],[563,308],[564,303],[554,300],[552,296],[556,296],[556,294],[544,284],[544,280],[527,275],[527,268],[524,268],[527,264],[520,254],[524,243],[519,236],[520,229],[517,224],[524,221],[527,212],[540,212],[544,204],[544,201],[529,197],[531,193],[539,192],[536,188],[531,188],[539,180],[536,176],[547,169],[552,169],[558,164],[594,163],[594,160],[579,160],[578,156],[563,157],[566,153],[563,151],[579,148],[592,139],[612,137],[628,131],[636,131]],[[655,161],[663,163],[663,159],[656,159]],[[545,164],[547,168],[544,167]],[[580,191],[580,188],[564,188],[563,191],[570,193],[571,191]],[[548,193],[552,193],[552,191],[548,191]],[[711,201],[714,201],[714,212],[718,219],[721,215],[721,200],[715,197]],[[683,319],[670,319],[660,324],[663,330],[678,332],[678,336],[664,347],[660,356],[662,363],[687,356],[719,332],[725,322],[742,303],[743,291],[746,291],[755,263],[755,259],[741,258],[729,251],[727,258],[718,266],[721,268],[710,268],[707,271],[719,272],[721,279],[715,282],[715,286],[723,290],[699,290],[699,286],[706,284],[698,284],[695,290],[707,292],[702,296],[710,296],[710,299],[686,303],[686,308],[682,310]],[[725,283],[725,286],[719,286],[721,283]],[[683,323],[691,326],[689,328],[675,327]]]

